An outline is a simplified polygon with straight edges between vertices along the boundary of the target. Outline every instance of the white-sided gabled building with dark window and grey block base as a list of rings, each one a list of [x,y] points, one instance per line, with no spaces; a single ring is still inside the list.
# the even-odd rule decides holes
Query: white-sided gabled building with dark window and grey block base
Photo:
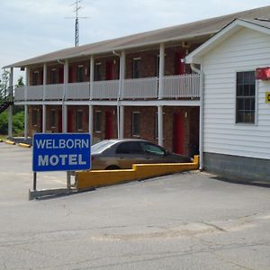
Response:
[[[270,22],[235,20],[195,49],[201,65],[201,168],[241,180],[270,181]],[[195,68],[194,68],[195,69]]]

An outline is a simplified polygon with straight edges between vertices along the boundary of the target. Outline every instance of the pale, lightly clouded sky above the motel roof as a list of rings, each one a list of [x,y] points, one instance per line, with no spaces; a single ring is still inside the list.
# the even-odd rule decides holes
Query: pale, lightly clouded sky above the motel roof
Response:
[[[0,0],[0,67],[74,46],[76,0]],[[269,0],[81,0],[79,45],[190,23]],[[14,80],[23,76],[18,68]]]

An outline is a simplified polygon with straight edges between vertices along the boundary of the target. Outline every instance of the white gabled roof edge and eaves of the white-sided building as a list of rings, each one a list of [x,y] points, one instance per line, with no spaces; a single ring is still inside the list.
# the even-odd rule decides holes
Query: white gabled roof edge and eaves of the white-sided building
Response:
[[[270,20],[267,19],[235,19],[218,33],[211,37],[210,40],[205,41],[200,47],[194,49],[185,58],[186,63],[200,64],[202,57],[206,55],[211,49],[214,49],[224,40],[227,40],[231,35],[242,28],[253,29],[264,32],[270,35]]]

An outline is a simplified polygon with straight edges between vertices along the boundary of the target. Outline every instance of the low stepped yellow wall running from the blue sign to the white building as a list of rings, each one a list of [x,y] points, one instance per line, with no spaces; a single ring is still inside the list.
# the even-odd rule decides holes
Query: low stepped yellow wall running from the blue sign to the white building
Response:
[[[160,175],[197,170],[198,168],[199,156],[195,156],[193,163],[135,164],[131,169],[76,172],[76,189],[84,190],[111,184],[121,184]]]

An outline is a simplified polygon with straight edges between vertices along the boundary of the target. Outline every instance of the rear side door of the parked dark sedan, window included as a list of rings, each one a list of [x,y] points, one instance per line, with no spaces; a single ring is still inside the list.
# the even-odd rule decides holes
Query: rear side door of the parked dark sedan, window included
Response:
[[[146,157],[139,141],[123,141],[115,150],[118,166],[132,168],[133,164],[146,163]]]

